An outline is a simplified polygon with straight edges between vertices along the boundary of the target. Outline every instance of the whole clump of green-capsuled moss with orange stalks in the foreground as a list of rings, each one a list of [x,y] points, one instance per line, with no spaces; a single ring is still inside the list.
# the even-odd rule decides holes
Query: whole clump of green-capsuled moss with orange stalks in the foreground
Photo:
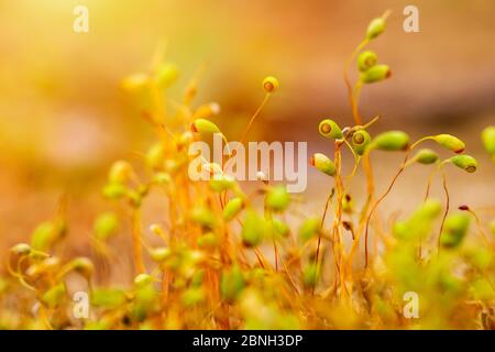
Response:
[[[66,197],[25,243],[11,246],[9,275],[0,276],[0,328],[494,329],[493,212],[468,204],[451,211],[448,186],[448,173],[469,183],[485,161],[464,154],[470,146],[449,131],[376,131],[388,117],[360,112],[361,91],[392,79],[386,57],[369,48],[384,36],[388,15],[363,25],[344,65],[352,120],[315,123],[327,144],[311,155],[305,142],[245,146],[265,105],[284,89],[273,76],[261,80],[264,96],[239,142],[219,128],[218,103],[196,103],[202,69],[182,97],[170,97],[179,70],[162,51],[150,70],[127,77],[122,88],[157,141],[143,163],[111,165],[102,196],[113,210],[88,228],[87,257],[61,250],[72,231]],[[494,127],[481,132],[481,143],[487,153],[480,158],[494,167]],[[373,164],[384,153],[402,162],[380,186]],[[308,165],[311,184],[328,189],[326,201],[298,194]],[[381,209],[413,167],[426,176],[415,179],[425,187],[421,199],[408,200],[418,202],[415,210]],[[441,199],[430,197],[437,176]],[[151,196],[165,204],[160,213],[147,207]],[[130,246],[125,270],[119,243]],[[128,284],[112,284],[112,272],[123,272]],[[81,297],[78,306],[88,297],[84,317],[73,314],[74,297]],[[406,314],[405,297],[414,298],[414,314]]]

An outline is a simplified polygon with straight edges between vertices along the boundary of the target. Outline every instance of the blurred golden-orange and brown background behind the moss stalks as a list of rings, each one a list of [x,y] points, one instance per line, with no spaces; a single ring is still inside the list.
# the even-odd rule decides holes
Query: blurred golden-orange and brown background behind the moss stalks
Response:
[[[73,31],[77,4],[89,9],[89,33]],[[419,8],[420,33],[403,31],[407,4]],[[138,152],[154,141],[120,82],[146,69],[160,43],[180,67],[172,96],[206,67],[195,103],[219,102],[216,122],[231,139],[263,98],[261,80],[274,75],[280,89],[250,139],[308,141],[310,152],[331,154],[318,122],[331,117],[351,123],[343,63],[370,19],[385,9],[393,10],[387,31],[371,47],[394,75],[365,87],[362,114],[383,114],[374,133],[395,128],[415,139],[446,132],[465,140],[481,167],[474,175],[449,169],[452,204],[493,211],[494,166],[479,138],[495,122],[493,0],[1,0],[0,257],[53,217],[65,193],[73,240],[67,253],[88,252],[92,219],[114,209],[100,196],[110,163],[139,163]],[[376,156],[381,193],[403,156]],[[428,173],[416,166],[405,174],[383,212],[415,207]],[[330,187],[310,170],[300,211],[321,211]],[[362,188],[356,182],[352,193],[359,198]],[[441,196],[438,183],[433,194]],[[163,206],[155,199],[147,207],[150,223]]]

